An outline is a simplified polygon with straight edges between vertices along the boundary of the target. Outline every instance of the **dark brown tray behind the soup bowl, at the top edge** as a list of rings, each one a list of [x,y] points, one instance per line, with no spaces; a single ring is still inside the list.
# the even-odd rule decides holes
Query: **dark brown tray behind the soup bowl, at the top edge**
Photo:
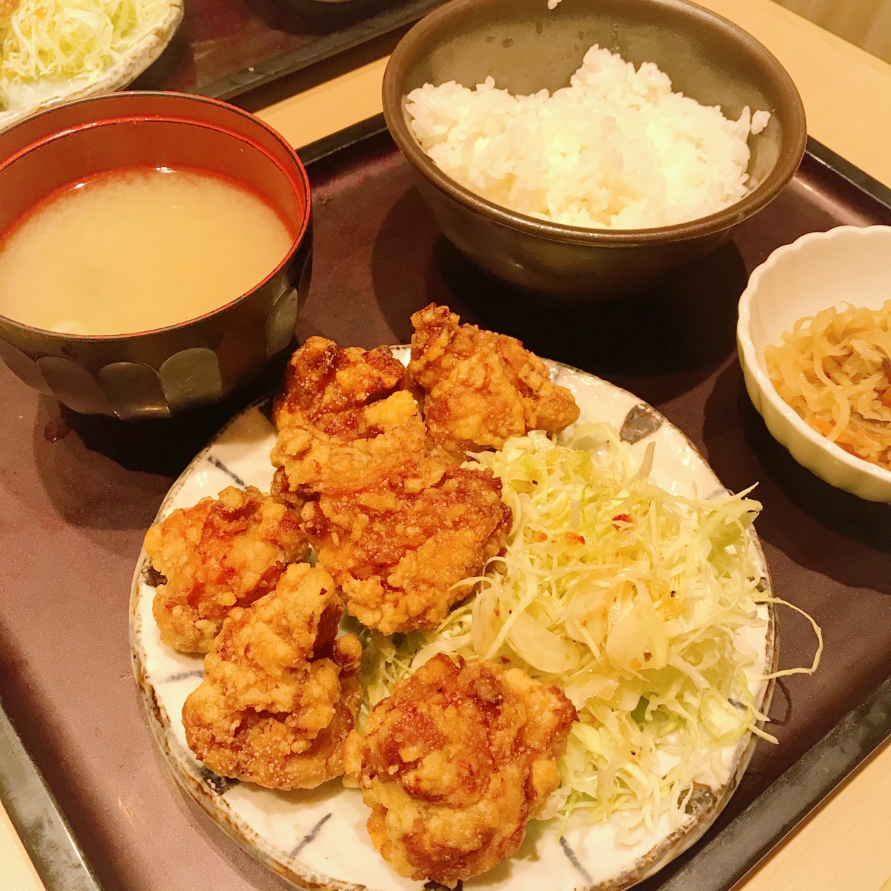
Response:
[[[185,0],[183,24],[133,85],[231,99],[375,37],[446,0]]]

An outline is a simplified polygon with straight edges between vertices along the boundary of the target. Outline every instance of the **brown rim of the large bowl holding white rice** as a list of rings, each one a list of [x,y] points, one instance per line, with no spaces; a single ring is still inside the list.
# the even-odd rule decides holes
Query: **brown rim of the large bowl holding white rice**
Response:
[[[402,91],[402,84],[405,80],[405,71],[411,61],[413,47],[416,42],[425,37],[436,35],[440,26],[446,22],[461,20],[464,12],[469,10],[471,6],[478,6],[482,2],[483,0],[451,0],[450,3],[439,6],[417,22],[402,37],[390,55],[387,67],[384,70],[381,90],[384,119],[400,151],[403,152],[413,167],[425,176],[439,191],[446,192],[449,197],[465,208],[481,214],[496,224],[516,229],[528,236],[547,241],[631,248],[649,243],[664,244],[666,242],[687,241],[699,236],[712,235],[730,229],[769,204],[789,183],[792,176],[795,176],[798,165],[804,157],[807,142],[805,106],[801,95],[798,93],[797,86],[795,86],[795,82],[792,80],[789,72],[782,66],[779,59],[760,41],[749,34],[748,31],[741,29],[739,25],[724,18],[717,12],[712,12],[698,4],[691,3],[690,0],[647,0],[653,6],[679,9],[684,14],[706,21],[716,29],[724,31],[747,48],[750,56],[771,73],[772,79],[781,87],[781,93],[788,96],[789,110],[783,114],[783,126],[784,132],[788,131],[792,135],[792,138],[789,139],[791,144],[785,151],[780,151],[777,161],[768,175],[739,201],[714,214],[709,214],[707,217],[697,217],[683,223],[646,229],[594,229],[585,226],[553,223],[505,208],[471,192],[470,189],[465,188],[452,179],[451,176],[448,176],[421,149],[421,145],[414,138],[410,127],[405,122],[405,94]],[[544,7],[545,0],[541,0],[541,3]],[[555,10],[554,12],[557,11]],[[774,113],[775,110],[772,111],[772,114]]]

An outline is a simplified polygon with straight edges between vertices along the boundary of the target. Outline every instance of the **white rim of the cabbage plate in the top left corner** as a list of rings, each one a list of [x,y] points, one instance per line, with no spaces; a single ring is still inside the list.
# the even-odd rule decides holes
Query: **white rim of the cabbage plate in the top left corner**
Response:
[[[60,102],[111,93],[131,84],[164,52],[183,20],[184,0],[167,0],[155,20],[135,34],[121,58],[98,76],[48,78],[6,89],[7,107],[0,110],[0,132],[17,121]]]

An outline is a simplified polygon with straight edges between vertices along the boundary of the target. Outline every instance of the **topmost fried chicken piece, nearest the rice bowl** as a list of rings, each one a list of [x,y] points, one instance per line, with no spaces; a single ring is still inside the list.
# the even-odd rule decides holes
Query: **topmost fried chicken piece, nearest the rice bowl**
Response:
[[[510,437],[556,432],[578,419],[572,394],[551,383],[544,362],[518,339],[458,321],[432,303],[412,316],[408,370],[424,391],[424,419],[438,443],[499,449]]]

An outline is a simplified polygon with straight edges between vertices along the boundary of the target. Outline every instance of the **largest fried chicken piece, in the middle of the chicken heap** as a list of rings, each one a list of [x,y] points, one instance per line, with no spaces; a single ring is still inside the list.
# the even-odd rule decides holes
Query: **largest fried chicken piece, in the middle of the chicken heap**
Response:
[[[325,429],[282,430],[272,454],[319,562],[364,625],[435,627],[507,540],[501,480],[437,448],[405,391]]]

